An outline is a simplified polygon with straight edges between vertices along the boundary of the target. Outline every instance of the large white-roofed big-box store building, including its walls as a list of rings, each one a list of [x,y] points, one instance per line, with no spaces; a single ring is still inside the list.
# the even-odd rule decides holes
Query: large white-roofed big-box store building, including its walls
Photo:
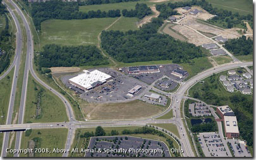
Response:
[[[68,82],[82,89],[83,91],[88,91],[90,89],[96,88],[97,86],[101,86],[111,79],[111,76],[108,74],[94,70],[92,72],[83,70],[82,74],[78,74],[78,76],[72,77],[68,80]]]

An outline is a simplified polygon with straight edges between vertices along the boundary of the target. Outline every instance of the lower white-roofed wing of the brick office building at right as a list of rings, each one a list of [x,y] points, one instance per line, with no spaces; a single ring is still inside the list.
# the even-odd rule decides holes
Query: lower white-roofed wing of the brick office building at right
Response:
[[[228,139],[239,137],[236,116],[224,116],[224,130]]]

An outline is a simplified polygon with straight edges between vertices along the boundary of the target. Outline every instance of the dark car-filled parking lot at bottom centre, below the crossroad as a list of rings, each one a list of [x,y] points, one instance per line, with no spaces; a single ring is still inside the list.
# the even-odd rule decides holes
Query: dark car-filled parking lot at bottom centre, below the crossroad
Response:
[[[121,149],[121,152],[96,152],[94,154],[87,153],[85,157],[171,157],[169,154],[168,146],[164,144],[164,142],[150,139],[142,139],[140,137],[131,137],[131,136],[108,136],[108,137],[91,137],[90,144],[88,145],[88,149],[93,148],[101,149]],[[141,151],[137,152],[138,149]],[[126,150],[126,152],[125,152]],[[136,151],[137,150],[137,151]],[[157,151],[155,153],[148,152],[146,150],[154,150]],[[162,150],[163,152],[161,153]]]

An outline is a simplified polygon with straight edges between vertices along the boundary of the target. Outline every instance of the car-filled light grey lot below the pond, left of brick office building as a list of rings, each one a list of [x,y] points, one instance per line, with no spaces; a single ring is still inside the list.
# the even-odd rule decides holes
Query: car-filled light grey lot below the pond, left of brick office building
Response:
[[[214,132],[197,135],[205,157],[231,157],[226,141]]]

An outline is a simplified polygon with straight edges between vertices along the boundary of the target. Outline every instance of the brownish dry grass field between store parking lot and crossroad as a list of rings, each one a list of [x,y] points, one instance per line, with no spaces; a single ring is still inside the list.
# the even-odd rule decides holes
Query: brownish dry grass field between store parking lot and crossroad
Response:
[[[125,103],[80,104],[88,120],[112,120],[149,117],[160,113],[164,106],[151,105],[140,100]]]

